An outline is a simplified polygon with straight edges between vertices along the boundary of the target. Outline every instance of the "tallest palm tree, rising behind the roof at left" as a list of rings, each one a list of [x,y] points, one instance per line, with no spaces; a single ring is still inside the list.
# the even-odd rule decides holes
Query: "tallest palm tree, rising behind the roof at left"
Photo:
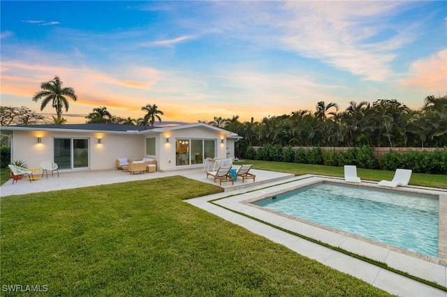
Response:
[[[50,82],[43,82],[41,84],[41,89],[43,91],[39,91],[34,95],[33,101],[37,102],[39,99],[42,100],[41,110],[43,110],[48,103],[52,103],[52,107],[56,109],[57,118],[54,122],[62,121],[62,108],[65,107],[65,111],[68,112],[68,98],[73,99],[73,101],[78,100],[78,96],[75,94],[75,90],[71,86],[67,86],[62,88],[62,82],[59,77],[56,75],[54,79],[50,80]]]

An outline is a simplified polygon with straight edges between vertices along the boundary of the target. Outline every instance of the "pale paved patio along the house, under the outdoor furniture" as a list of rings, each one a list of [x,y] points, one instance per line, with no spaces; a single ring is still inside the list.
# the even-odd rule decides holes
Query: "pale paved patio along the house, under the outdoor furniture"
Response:
[[[239,165],[235,165],[235,168]],[[261,185],[263,183],[270,183],[274,181],[281,181],[285,178],[293,178],[293,174],[284,174],[281,172],[270,172],[265,170],[251,169],[251,173],[256,174],[256,182],[245,181],[242,183],[242,178],[237,178],[234,185],[230,182],[222,183],[221,188],[226,191],[243,189],[254,185]],[[54,176],[44,175],[43,178],[36,181],[27,180],[26,177],[22,180],[13,183],[12,179],[4,183],[0,187],[0,197],[10,195],[22,195],[35,192],[47,192],[54,190],[65,190],[72,188],[90,187],[93,185],[106,185],[110,183],[124,183],[127,181],[142,181],[152,178],[162,178],[166,176],[185,176],[187,178],[202,181],[203,183],[214,183],[213,178],[207,178],[206,172],[203,169],[183,169],[169,172],[152,172],[145,174],[130,174],[129,172],[122,172],[121,170],[104,170],[104,171],[82,171],[82,172],[64,172],[59,171],[59,178],[55,173]],[[214,183],[219,186],[219,182]]]

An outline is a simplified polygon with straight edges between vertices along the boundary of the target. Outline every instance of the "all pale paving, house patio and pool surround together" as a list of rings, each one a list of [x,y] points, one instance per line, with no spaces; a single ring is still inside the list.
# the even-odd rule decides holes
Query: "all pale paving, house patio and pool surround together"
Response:
[[[302,186],[306,183],[314,183],[315,181],[325,178],[323,176],[293,176],[292,174],[282,174],[279,172],[269,172],[264,170],[252,169],[256,174],[256,183],[253,181],[237,180],[234,185],[231,183],[223,183],[224,192],[217,193],[206,197],[189,199],[185,203],[192,204],[205,211],[214,213],[219,217],[239,224],[240,226],[269,238],[271,241],[286,246],[287,248],[298,252],[306,257],[315,259],[327,266],[358,277],[361,280],[369,282],[375,287],[379,287],[391,294],[399,296],[443,296],[447,297],[447,292],[434,287],[428,286],[408,277],[404,277],[397,273],[393,273],[386,269],[374,266],[360,259],[349,257],[348,255],[337,252],[323,245],[312,243],[299,236],[295,236],[286,231],[281,231],[273,226],[279,226],[296,234],[308,236],[328,243],[332,246],[351,251],[354,254],[362,254],[365,257],[382,261],[388,266],[405,271],[410,275],[421,277],[425,280],[437,282],[447,287],[447,267],[444,260],[421,259],[411,254],[402,253],[387,246],[379,246],[368,243],[365,240],[339,234],[328,229],[312,226],[299,222],[293,218],[287,218],[283,215],[277,215],[261,208],[249,204],[249,201],[274,195],[277,192],[284,192],[295,186]],[[49,176],[40,180],[29,183],[25,179],[17,184],[8,181],[0,187],[0,197],[9,195],[22,195],[34,192],[46,192],[51,190],[64,190],[69,188],[81,188],[94,185],[103,185],[110,183],[120,183],[126,181],[147,180],[152,178],[161,178],[166,176],[186,176],[196,179],[204,183],[214,183],[212,178],[206,178],[202,169],[179,170],[173,172],[154,172],[146,174],[129,174],[117,170],[108,170],[101,172],[67,172],[61,173],[60,177]],[[341,178],[330,178],[330,181],[340,181]],[[368,183],[362,181],[362,185],[377,186],[376,183]],[[412,192],[423,191],[433,192],[440,195],[439,216],[440,224],[439,241],[441,248],[440,253],[444,252],[444,259],[447,258],[447,190],[441,190],[420,187],[399,187],[399,190],[411,190]],[[216,200],[218,199],[218,200]],[[214,201],[215,200],[215,201]],[[210,201],[214,201],[211,203]],[[442,202],[441,202],[442,201]],[[235,213],[239,211],[242,214]],[[247,215],[252,218],[247,217]],[[260,220],[262,222],[260,222]],[[265,223],[268,224],[265,224]],[[438,263],[435,263],[438,262]]]

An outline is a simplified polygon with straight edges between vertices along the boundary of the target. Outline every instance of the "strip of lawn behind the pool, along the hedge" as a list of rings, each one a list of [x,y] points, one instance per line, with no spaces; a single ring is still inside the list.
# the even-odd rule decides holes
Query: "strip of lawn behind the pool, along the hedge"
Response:
[[[286,172],[295,175],[302,174],[316,174],[325,176],[344,176],[344,167],[332,167],[324,165],[310,165],[287,162],[270,162],[247,160],[244,162],[237,162],[237,164],[253,164],[256,169],[271,170],[276,172]],[[374,169],[357,169],[357,175],[365,181],[381,181],[386,179],[388,181],[393,179],[395,172],[386,170]],[[447,175],[446,174],[411,174],[409,185],[421,185],[432,188],[447,189]]]

